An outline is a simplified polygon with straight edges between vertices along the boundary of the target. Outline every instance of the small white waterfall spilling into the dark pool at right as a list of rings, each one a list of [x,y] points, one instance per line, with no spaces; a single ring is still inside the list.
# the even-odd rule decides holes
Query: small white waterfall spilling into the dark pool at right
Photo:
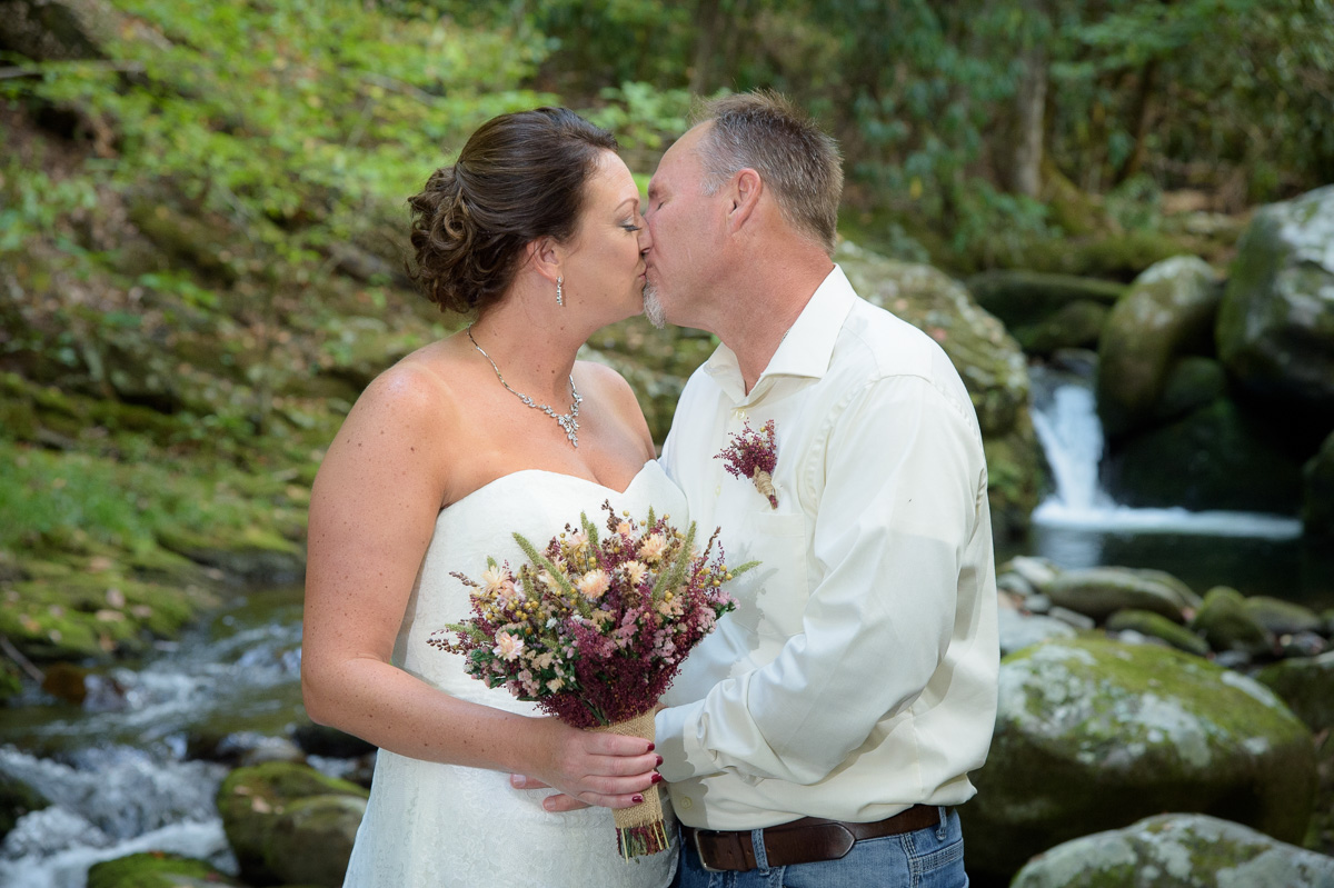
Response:
[[[1279,515],[1118,505],[1099,483],[1103,436],[1091,373],[1033,367],[1030,376],[1033,427],[1055,483],[1051,496],[1034,511],[1034,525],[1062,531],[1269,540],[1291,540],[1302,535],[1299,520]]]

